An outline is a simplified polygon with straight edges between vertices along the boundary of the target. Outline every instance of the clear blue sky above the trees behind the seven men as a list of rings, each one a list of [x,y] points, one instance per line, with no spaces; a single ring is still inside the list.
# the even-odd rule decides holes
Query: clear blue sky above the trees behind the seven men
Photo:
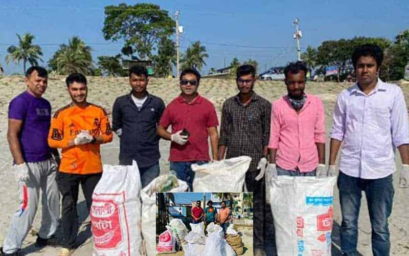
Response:
[[[145,1],[144,1],[145,2]],[[43,50],[47,62],[58,45],[78,35],[94,49],[93,57],[116,55],[122,45],[105,41],[102,35],[104,6],[141,1],[57,1],[2,0],[0,6],[0,62],[6,73],[22,71],[22,65],[4,63],[16,33],[30,32]],[[210,57],[202,73],[228,65],[234,57],[259,62],[259,72],[285,65],[297,58],[293,20],[300,18],[301,47],[319,46],[322,41],[354,36],[393,39],[409,29],[408,0],[373,1],[148,1],[171,15],[180,10],[184,26],[180,47],[183,52],[195,40],[208,49]],[[46,65],[44,63],[43,65]]]

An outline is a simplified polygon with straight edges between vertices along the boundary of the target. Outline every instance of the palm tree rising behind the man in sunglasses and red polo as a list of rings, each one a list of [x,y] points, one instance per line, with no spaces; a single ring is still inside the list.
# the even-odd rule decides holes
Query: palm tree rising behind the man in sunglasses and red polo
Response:
[[[204,58],[209,58],[206,47],[200,45],[200,41],[195,41],[190,47],[188,47],[188,49],[186,49],[186,53],[183,54],[181,58],[181,69],[195,68],[201,70],[203,65],[206,66]]]

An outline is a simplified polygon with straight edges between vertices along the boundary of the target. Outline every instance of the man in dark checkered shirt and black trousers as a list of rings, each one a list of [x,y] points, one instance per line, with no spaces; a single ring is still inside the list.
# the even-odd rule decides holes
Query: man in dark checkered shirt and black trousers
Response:
[[[245,185],[254,194],[254,255],[264,255],[264,171],[270,133],[271,103],[253,92],[256,70],[251,65],[237,69],[239,94],[226,100],[221,114],[219,159],[249,156]]]

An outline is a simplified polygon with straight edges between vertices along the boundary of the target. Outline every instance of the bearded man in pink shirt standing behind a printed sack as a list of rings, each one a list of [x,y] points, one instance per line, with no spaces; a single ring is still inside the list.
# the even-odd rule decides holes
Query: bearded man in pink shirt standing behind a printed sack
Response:
[[[304,62],[290,63],[284,74],[288,94],[272,104],[267,181],[277,175],[326,176],[323,102],[304,93]]]

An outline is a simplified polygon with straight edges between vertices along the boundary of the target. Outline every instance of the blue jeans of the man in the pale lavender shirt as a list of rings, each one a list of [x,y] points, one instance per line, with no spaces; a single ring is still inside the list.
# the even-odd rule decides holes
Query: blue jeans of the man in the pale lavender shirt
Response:
[[[389,255],[388,218],[392,212],[394,188],[392,174],[381,179],[361,179],[339,172],[339,202],[342,212],[340,231],[343,255],[357,255],[358,216],[362,191],[368,202],[369,218],[372,226],[372,253],[374,256]]]

